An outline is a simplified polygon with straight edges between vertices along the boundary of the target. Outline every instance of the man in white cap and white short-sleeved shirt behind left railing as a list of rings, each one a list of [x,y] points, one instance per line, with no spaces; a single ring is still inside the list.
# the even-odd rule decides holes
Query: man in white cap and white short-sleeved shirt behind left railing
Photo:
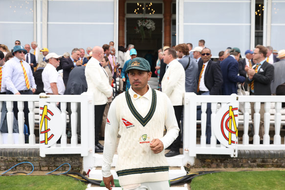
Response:
[[[58,74],[56,68],[59,66],[62,56],[49,53],[45,56],[46,66],[42,73],[45,94],[64,94],[66,87],[63,78]]]

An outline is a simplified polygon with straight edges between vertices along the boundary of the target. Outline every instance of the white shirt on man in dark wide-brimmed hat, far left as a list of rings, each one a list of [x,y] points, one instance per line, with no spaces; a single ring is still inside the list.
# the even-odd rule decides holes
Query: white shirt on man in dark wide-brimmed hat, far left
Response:
[[[13,92],[13,94],[16,94],[21,90],[28,90],[20,61],[21,60],[19,60],[17,57],[7,61],[5,63],[6,66],[4,75],[2,75],[2,81],[4,80],[6,89]],[[35,79],[30,65],[25,61],[23,61],[22,64],[26,70],[30,87],[36,89],[37,85],[35,84]]]

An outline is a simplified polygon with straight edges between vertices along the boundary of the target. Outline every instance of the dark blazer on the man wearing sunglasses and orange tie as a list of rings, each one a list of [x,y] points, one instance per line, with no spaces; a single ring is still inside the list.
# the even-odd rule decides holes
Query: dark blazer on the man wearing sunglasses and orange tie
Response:
[[[198,76],[201,73],[203,66],[202,59],[198,62]],[[219,63],[213,62],[212,60],[209,60],[209,63],[207,64],[205,75],[204,75],[204,83],[206,87],[210,91],[210,95],[219,95],[220,89],[222,85],[222,74],[220,70]],[[197,80],[198,83],[198,80]]]

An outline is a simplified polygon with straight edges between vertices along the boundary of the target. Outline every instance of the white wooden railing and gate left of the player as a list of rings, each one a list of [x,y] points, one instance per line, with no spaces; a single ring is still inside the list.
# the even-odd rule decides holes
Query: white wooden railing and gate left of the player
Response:
[[[13,101],[18,102],[18,124],[19,133],[13,134]],[[6,102],[8,133],[0,133],[0,148],[40,148],[39,140],[36,142],[34,134],[35,124],[39,123],[39,102],[48,102],[55,104],[61,103],[61,117],[64,130],[61,135],[60,144],[55,144],[49,148],[40,148],[40,155],[45,154],[81,154],[87,156],[88,152],[94,152],[94,106],[92,104],[92,95],[83,93],[81,95],[0,95],[0,112],[2,103]],[[29,143],[24,140],[24,113],[23,104],[28,102],[29,108]],[[66,112],[67,103],[71,107],[71,140],[67,143],[66,125],[68,117]],[[77,106],[81,106],[81,144],[77,144]],[[17,139],[15,139],[17,138]],[[5,144],[4,140],[6,139]],[[15,144],[17,142],[17,144]]]

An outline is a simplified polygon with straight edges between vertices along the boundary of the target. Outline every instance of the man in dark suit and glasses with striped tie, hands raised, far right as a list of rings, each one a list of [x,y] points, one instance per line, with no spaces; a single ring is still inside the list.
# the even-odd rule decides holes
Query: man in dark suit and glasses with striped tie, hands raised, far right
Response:
[[[274,66],[266,62],[267,48],[263,45],[257,45],[253,53],[253,59],[257,63],[252,67],[245,66],[245,71],[248,74],[246,81],[250,84],[250,95],[271,95],[270,84],[274,78]],[[254,104],[251,103],[251,118],[253,121]],[[253,140],[263,143],[264,135],[264,103],[260,109],[260,130],[259,135],[254,134]],[[269,141],[269,139],[268,139]],[[269,142],[268,142],[269,143]]]

